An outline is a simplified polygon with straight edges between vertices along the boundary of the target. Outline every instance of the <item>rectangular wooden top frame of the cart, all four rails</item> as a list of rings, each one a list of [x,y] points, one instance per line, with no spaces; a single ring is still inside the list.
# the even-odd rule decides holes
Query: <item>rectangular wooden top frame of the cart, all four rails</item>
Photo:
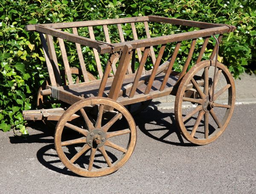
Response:
[[[60,29],[63,28],[74,28],[74,27],[85,27],[85,26],[99,26],[108,24],[119,24],[119,23],[134,23],[134,22],[162,22],[171,23],[175,25],[182,26],[192,26],[201,28],[200,30],[191,32],[182,32],[173,35],[165,35],[155,38],[145,38],[134,41],[125,41],[120,43],[107,43],[103,41],[96,41],[91,38],[85,38],[79,35],[70,34],[63,32]],[[44,34],[52,35],[57,38],[66,39],[67,41],[72,41],[79,43],[84,46],[90,46],[97,49],[100,54],[119,52],[125,44],[131,44],[132,49],[144,48],[148,46],[155,46],[159,44],[166,44],[178,41],[184,41],[194,38],[202,38],[211,36],[214,34],[224,34],[228,32],[233,32],[236,29],[235,26],[230,26],[226,24],[215,24],[198,22],[192,20],[180,20],[176,18],[167,18],[160,16],[142,16],[142,17],[127,17],[118,19],[106,19],[106,20],[91,20],[91,21],[78,21],[78,22],[67,22],[67,23],[49,23],[49,24],[35,24],[26,26],[27,31],[38,31]]]

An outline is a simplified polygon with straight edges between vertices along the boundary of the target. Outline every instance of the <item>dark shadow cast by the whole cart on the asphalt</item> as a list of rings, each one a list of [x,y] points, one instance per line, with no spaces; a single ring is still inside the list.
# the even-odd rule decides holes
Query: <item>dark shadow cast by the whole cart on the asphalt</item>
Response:
[[[183,139],[179,129],[175,124],[174,113],[170,113],[170,111],[166,113],[166,111],[157,110],[157,107],[154,106],[154,104],[134,116],[134,121],[137,125],[137,129],[139,129],[146,136],[152,138],[153,140],[177,146],[197,146],[192,143],[186,142],[186,140]],[[48,128],[43,122],[31,122],[29,123],[29,127],[35,130],[33,132],[34,134],[30,134],[26,139],[11,136],[9,137],[10,142],[12,144],[48,144],[37,151],[36,155],[38,161],[46,168],[57,173],[80,177],[79,175],[73,173],[72,171],[69,171],[66,167],[64,167],[64,165],[58,158],[54,146],[53,129]],[[139,141],[139,139],[137,140]],[[74,155],[77,152],[76,149],[73,148],[70,148],[68,151],[70,152],[70,155]],[[108,156],[112,159],[112,161],[116,160],[115,156],[110,152],[108,152]],[[89,161],[89,157],[87,156],[84,156],[82,159],[84,159],[85,161]],[[83,162],[81,162],[81,165],[83,165],[82,163]]]

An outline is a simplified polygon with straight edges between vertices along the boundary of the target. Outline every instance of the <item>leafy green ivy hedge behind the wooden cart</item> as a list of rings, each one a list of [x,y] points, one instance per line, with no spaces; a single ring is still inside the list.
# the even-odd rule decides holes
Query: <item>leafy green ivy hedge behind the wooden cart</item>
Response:
[[[21,111],[35,108],[47,78],[39,35],[26,32],[27,24],[150,14],[236,26],[224,36],[219,55],[235,78],[248,65],[255,68],[254,0],[0,0],[0,129],[27,133]]]

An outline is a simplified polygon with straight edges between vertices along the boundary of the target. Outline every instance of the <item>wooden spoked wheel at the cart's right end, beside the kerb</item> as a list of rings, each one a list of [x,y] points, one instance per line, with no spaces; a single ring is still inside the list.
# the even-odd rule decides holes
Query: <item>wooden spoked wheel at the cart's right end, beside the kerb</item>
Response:
[[[186,96],[186,91],[195,92]],[[192,67],[180,82],[175,99],[175,119],[184,138],[198,145],[217,139],[231,119],[235,98],[233,77],[223,64],[217,62],[215,69],[215,61],[201,61]]]

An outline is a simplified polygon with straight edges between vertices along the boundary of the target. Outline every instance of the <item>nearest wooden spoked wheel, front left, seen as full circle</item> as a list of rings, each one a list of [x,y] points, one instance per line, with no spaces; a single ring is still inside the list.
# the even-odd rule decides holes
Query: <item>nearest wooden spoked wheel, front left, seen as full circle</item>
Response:
[[[74,113],[84,122],[68,121]],[[55,130],[55,148],[61,162],[84,177],[118,170],[131,156],[135,143],[136,125],[131,114],[121,104],[103,97],[71,105]]]

